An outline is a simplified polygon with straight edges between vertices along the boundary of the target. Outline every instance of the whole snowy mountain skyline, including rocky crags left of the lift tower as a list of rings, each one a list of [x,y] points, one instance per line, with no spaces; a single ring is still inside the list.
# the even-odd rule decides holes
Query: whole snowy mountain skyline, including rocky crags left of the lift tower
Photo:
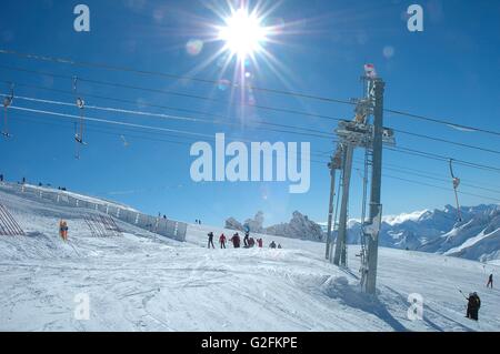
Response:
[[[462,220],[458,221],[457,209],[446,205],[443,210],[423,210],[399,215],[388,215],[382,220],[380,245],[400,250],[423,251],[453,255],[476,261],[500,259],[500,205],[462,206]],[[264,215],[258,212],[243,223],[234,218],[226,221],[226,227],[251,232],[322,242],[326,240],[327,224],[316,223],[296,211],[289,223],[264,227]],[[361,224],[349,221],[348,243],[359,244]]]

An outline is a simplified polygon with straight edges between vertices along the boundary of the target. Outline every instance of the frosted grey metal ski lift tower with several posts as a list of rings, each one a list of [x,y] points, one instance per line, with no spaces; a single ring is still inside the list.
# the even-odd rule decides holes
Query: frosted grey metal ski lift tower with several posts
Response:
[[[339,143],[337,154],[341,151],[341,203],[337,231],[334,254],[332,254],[333,243],[331,242],[331,222],[329,222],[327,255],[337,265],[347,265],[347,222],[349,206],[349,186],[352,170],[352,158],[356,148],[363,148],[364,154],[364,192],[363,208],[361,216],[361,285],[367,293],[374,294],[377,279],[377,259],[379,232],[381,225],[382,205],[380,200],[381,178],[382,178],[382,144],[394,145],[394,134],[391,129],[383,128],[383,90],[384,82],[377,78],[373,65],[364,65],[364,75],[361,78],[366,84],[366,97],[353,100],[356,103],[354,119],[342,120],[336,129]],[[373,117],[372,123],[369,118]],[[336,155],[337,155],[336,154]],[[332,168],[338,168],[331,163]],[[370,203],[368,221],[364,220],[367,205],[367,183],[368,170],[371,166]],[[333,185],[333,183],[332,183]],[[333,186],[334,188],[334,186]],[[340,191],[339,191],[340,192]],[[331,195],[334,193],[330,193]],[[340,193],[339,193],[340,194]],[[340,198],[340,195],[338,196]],[[330,209],[332,210],[332,198],[330,198]],[[330,216],[330,213],[329,213]],[[336,225],[336,222],[333,222]]]

